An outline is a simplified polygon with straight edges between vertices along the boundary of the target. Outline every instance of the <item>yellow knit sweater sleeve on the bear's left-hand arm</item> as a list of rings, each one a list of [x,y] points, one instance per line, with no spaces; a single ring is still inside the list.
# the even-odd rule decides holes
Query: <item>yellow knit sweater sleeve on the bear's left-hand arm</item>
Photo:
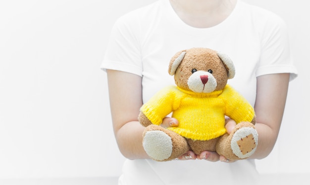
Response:
[[[180,105],[177,89],[169,86],[158,91],[140,111],[142,111],[153,124],[160,125],[162,119]]]

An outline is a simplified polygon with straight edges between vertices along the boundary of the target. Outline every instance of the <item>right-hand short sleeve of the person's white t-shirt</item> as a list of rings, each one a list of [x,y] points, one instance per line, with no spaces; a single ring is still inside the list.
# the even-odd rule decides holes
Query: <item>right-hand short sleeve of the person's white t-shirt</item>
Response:
[[[288,30],[285,22],[271,14],[262,31],[261,55],[256,75],[290,73],[290,80],[297,76],[294,67]]]

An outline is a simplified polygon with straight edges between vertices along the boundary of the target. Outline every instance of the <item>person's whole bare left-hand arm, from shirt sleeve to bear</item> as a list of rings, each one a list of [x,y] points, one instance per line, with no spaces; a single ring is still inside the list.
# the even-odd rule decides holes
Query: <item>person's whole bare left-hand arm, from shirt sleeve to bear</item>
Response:
[[[142,146],[144,127],[138,122],[142,106],[142,78],[107,70],[114,135],[120,152],[129,159],[147,158]],[[126,83],[124,83],[126,79]]]

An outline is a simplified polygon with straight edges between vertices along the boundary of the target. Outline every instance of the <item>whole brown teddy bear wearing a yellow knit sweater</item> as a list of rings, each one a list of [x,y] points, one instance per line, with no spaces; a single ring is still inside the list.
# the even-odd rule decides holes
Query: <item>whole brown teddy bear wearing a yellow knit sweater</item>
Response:
[[[251,156],[258,145],[256,115],[250,103],[227,80],[235,75],[232,60],[209,48],[177,52],[168,72],[176,85],[158,91],[140,109],[145,126],[143,148],[156,161],[169,161],[192,150],[215,151],[229,160]],[[172,112],[179,125],[164,128],[162,119]],[[228,134],[225,119],[237,125]]]

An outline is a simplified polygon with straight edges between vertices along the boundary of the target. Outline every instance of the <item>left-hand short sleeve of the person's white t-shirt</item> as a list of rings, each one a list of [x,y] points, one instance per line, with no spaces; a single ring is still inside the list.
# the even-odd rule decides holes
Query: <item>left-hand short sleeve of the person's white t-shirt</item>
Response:
[[[117,70],[142,76],[139,27],[130,16],[120,17],[114,24],[101,69]]]

